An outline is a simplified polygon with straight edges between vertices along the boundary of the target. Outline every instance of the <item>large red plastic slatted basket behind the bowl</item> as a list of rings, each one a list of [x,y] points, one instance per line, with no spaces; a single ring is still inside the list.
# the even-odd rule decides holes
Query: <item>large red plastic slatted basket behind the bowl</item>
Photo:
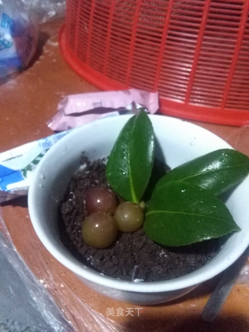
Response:
[[[248,0],[68,0],[59,41],[100,89],[158,90],[165,114],[248,124]]]

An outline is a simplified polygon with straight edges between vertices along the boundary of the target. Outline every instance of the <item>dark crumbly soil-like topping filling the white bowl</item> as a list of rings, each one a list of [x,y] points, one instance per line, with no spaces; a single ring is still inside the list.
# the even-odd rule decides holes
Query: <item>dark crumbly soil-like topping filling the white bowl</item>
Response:
[[[88,215],[85,195],[93,186],[109,185],[103,160],[89,162],[82,156],[81,164],[61,204],[59,226],[63,243],[84,264],[114,278],[148,282],[183,276],[202,267],[215,255],[218,240],[165,247],[149,239],[142,228],[134,233],[120,233],[110,248],[89,247],[81,235],[82,222]]]

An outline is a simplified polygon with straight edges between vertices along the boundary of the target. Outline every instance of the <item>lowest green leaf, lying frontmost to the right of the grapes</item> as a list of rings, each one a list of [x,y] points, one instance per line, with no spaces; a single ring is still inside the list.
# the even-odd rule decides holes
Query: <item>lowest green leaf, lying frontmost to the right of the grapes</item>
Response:
[[[144,230],[153,241],[183,246],[240,230],[225,204],[194,184],[169,182],[156,187]]]

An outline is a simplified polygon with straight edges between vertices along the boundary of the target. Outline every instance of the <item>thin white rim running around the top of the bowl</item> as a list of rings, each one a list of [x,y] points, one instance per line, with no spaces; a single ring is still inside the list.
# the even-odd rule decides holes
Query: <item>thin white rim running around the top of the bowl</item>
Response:
[[[132,115],[122,115],[118,118],[122,121],[124,124],[125,122],[131,117]],[[160,121],[167,121],[167,119],[171,119],[173,122],[185,122],[187,126],[194,128],[198,128],[198,130],[203,130],[204,132],[207,132],[208,135],[213,135],[215,138],[220,140],[222,144],[224,144],[224,148],[230,148],[233,149],[231,145],[229,145],[226,141],[224,141],[222,138],[220,138],[218,135],[212,133],[206,128],[203,128],[197,124],[192,124],[188,121],[172,118],[168,116],[161,116],[161,115],[149,115],[150,119],[153,122],[153,119],[157,119]],[[141,293],[154,293],[154,292],[165,292],[165,291],[174,291],[174,290],[181,290],[188,287],[196,286],[202,282],[205,282],[216,275],[218,275],[220,272],[224,271],[226,268],[228,268],[233,262],[236,261],[236,259],[239,258],[239,256],[246,250],[249,244],[248,241],[241,242],[241,245],[239,247],[236,247],[235,250],[231,251],[229,258],[224,259],[222,262],[218,264],[218,266],[215,266],[215,268],[210,268],[208,271],[202,271],[203,267],[200,269],[197,269],[194,272],[191,272],[189,274],[186,274],[182,277],[165,280],[165,281],[158,281],[158,282],[142,282],[142,283],[134,283],[132,281],[124,281],[113,277],[108,277],[106,275],[101,275],[99,272],[96,272],[95,270],[87,267],[84,267],[84,264],[80,261],[77,261],[74,257],[65,257],[63,253],[61,253],[58,248],[47,238],[43,227],[41,225],[41,222],[39,221],[39,215],[36,212],[36,202],[35,202],[35,192],[37,190],[37,187],[35,186],[34,181],[39,176],[40,169],[43,167],[44,164],[46,164],[46,160],[50,158],[50,156],[53,155],[54,151],[56,151],[57,147],[60,145],[63,145],[64,142],[67,142],[68,140],[73,138],[74,136],[77,136],[78,133],[84,132],[84,130],[91,128],[91,126],[95,125],[101,125],[103,122],[115,122],[117,121],[117,117],[109,117],[100,119],[97,121],[94,121],[89,124],[85,124],[81,127],[73,129],[71,132],[69,132],[67,135],[62,137],[58,142],[56,142],[42,157],[40,163],[38,164],[35,173],[33,175],[33,181],[29,188],[28,193],[28,208],[29,208],[29,214],[31,218],[32,225],[35,229],[35,232],[37,236],[39,237],[42,244],[45,246],[45,248],[50,252],[50,254],[58,260],[62,265],[67,267],[69,270],[74,272],[76,275],[87,279],[90,282],[94,282],[96,284],[99,284],[104,287],[116,289],[116,290],[123,290],[123,291],[133,291],[133,292],[141,292]],[[226,147],[225,147],[226,146]],[[68,252],[69,253],[69,252]],[[212,260],[211,260],[212,261]],[[205,264],[208,265],[209,263]],[[198,272],[197,272],[198,271]]]

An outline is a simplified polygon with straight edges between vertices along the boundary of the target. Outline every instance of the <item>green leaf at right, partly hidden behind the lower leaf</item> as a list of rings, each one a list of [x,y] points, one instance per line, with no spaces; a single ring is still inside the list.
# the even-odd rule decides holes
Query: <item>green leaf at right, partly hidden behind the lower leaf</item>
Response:
[[[158,182],[185,181],[220,195],[236,186],[249,173],[249,158],[236,150],[221,149],[193,159],[168,172]]]

